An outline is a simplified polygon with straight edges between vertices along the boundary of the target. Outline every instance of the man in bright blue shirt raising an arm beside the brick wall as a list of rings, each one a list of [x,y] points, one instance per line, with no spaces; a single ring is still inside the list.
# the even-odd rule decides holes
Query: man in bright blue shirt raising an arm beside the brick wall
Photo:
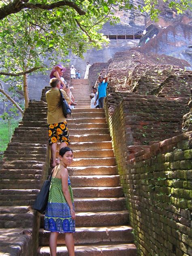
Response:
[[[97,104],[97,100],[99,103],[99,108],[103,109],[104,107],[104,98],[107,96],[107,77],[103,77],[103,76],[99,76],[98,80],[99,80],[99,85],[98,85],[98,94],[97,94],[97,98],[95,100],[94,105]]]

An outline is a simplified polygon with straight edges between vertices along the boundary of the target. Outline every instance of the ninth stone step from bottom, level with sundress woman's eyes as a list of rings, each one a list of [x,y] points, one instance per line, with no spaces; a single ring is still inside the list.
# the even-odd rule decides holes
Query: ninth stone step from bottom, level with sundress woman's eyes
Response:
[[[114,157],[113,149],[87,149],[74,150],[74,158],[111,158]]]

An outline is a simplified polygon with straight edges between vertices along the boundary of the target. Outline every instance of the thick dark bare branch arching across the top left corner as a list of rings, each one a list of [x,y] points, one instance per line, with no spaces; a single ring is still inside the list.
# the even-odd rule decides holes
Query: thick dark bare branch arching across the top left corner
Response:
[[[83,11],[77,4],[70,1],[59,1],[53,4],[31,4],[28,3],[29,0],[14,0],[13,2],[10,2],[9,4],[3,6],[0,8],[0,19],[4,19],[6,16],[12,14],[12,13],[18,13],[22,9],[43,9],[43,10],[52,10],[58,7],[62,6],[69,6],[79,15],[85,15],[86,12]]]

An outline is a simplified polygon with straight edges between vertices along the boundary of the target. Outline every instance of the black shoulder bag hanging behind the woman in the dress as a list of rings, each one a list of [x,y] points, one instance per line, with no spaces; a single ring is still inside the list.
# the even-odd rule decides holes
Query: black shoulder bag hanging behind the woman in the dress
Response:
[[[54,170],[54,168],[53,168],[53,170]],[[47,207],[52,174],[53,174],[53,171],[51,172],[49,179],[46,179],[44,181],[43,186],[42,186],[41,190],[39,191],[39,193],[36,197],[35,203],[33,205],[33,208],[42,214],[45,214],[45,209]]]

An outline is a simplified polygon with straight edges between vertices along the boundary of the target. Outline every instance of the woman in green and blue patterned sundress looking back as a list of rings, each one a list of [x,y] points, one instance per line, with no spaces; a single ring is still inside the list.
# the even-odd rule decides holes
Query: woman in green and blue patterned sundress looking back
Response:
[[[51,256],[57,253],[59,233],[65,233],[65,243],[69,256],[75,256],[73,233],[75,232],[75,210],[73,192],[70,186],[67,166],[73,161],[73,151],[63,147],[59,151],[60,164],[55,166],[45,211],[45,227],[51,231],[49,247]]]

